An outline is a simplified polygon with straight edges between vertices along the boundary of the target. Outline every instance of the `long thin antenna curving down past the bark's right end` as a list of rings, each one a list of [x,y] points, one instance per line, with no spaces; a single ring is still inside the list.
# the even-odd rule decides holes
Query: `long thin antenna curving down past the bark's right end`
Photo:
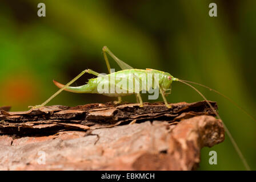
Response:
[[[203,94],[202,94],[201,92],[199,92],[199,90],[197,90],[196,88],[194,88],[194,86],[188,84],[187,82],[185,82],[185,81],[183,81],[183,80],[177,79],[177,81],[182,82],[183,84],[188,85],[188,86],[190,86],[191,88],[193,88],[200,96],[203,97],[203,99],[206,101],[206,103],[207,103],[207,104],[210,106],[210,108],[213,110],[213,112],[214,112],[214,114],[217,116],[217,118],[222,121],[222,119],[221,119],[221,117],[219,117],[219,114],[217,113],[217,111],[213,108],[213,106],[212,106],[212,105],[210,104],[210,102],[206,99],[206,97],[203,96]],[[249,165],[248,165],[247,162],[246,162],[245,157],[243,156],[241,150],[239,149],[239,147],[238,147],[237,143],[235,142],[234,138],[232,137],[231,133],[230,133],[229,130],[227,129],[225,123],[223,123],[223,127],[224,127],[224,129],[225,129],[227,135],[229,136],[229,138],[230,138],[230,140],[231,140],[231,143],[233,144],[233,146],[234,146],[234,148],[235,148],[235,151],[237,151],[237,154],[239,155],[239,158],[242,160],[243,165],[245,166],[246,170],[247,170],[247,171],[251,171]]]

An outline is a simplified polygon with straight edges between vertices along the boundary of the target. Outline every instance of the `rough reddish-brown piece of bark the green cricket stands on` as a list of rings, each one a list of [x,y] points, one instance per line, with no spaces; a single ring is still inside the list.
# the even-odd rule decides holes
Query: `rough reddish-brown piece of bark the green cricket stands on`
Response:
[[[223,124],[205,101],[171,105],[0,107],[0,170],[196,169]]]

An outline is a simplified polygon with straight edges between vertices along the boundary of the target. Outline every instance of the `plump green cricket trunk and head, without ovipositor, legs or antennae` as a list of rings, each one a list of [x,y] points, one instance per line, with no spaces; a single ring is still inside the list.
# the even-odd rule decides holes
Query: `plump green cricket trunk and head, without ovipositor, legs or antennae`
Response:
[[[97,78],[97,93],[110,97],[126,96],[159,87],[170,87],[170,74],[154,69],[125,69]],[[167,80],[166,80],[167,79]],[[166,82],[168,81],[168,82]]]

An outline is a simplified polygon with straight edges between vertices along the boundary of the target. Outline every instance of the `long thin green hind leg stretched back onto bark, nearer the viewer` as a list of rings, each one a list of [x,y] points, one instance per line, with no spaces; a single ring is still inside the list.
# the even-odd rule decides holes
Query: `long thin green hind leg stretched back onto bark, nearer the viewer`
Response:
[[[45,106],[48,102],[50,102],[54,97],[56,97],[59,93],[61,93],[63,90],[65,90],[67,88],[67,86],[73,84],[73,82],[75,82],[76,80],[78,80],[78,78],[80,78],[83,74],[85,73],[90,73],[93,74],[95,76],[98,76],[99,73],[91,70],[91,69],[85,69],[84,71],[82,71],[78,76],[76,76],[75,78],[73,78],[73,80],[71,80],[70,82],[68,82],[65,86],[63,86],[61,89],[59,89],[57,92],[55,92],[50,98],[48,98],[45,102],[43,102],[41,105],[36,105],[36,106],[29,106],[32,107],[32,109],[37,109],[39,107],[43,107]]]

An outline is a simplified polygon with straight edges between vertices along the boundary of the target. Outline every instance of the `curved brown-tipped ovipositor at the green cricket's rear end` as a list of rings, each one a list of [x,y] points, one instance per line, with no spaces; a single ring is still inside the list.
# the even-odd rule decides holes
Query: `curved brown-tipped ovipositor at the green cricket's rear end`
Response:
[[[63,88],[65,85],[53,80],[53,83],[58,86],[58,88]],[[93,89],[90,84],[85,84],[81,86],[67,86],[64,90],[67,92],[73,92],[73,93],[92,93]]]

